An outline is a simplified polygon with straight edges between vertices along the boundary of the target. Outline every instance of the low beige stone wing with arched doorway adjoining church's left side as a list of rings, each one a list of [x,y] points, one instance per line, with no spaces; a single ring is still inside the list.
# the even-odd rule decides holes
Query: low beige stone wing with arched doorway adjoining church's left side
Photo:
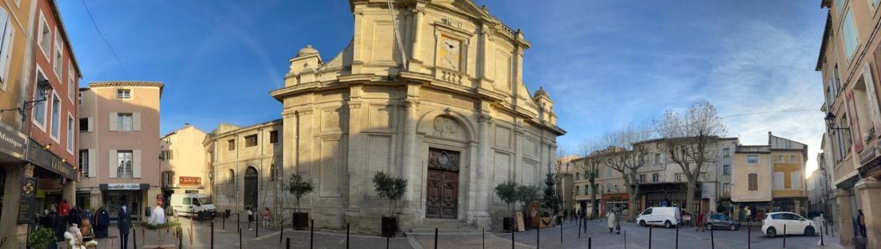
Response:
[[[290,174],[283,175],[278,168],[282,164],[281,135],[282,121],[276,120],[248,127],[221,123],[205,136],[206,177],[218,212],[241,213],[247,206],[272,210],[292,207],[290,194],[284,194],[281,187]]]

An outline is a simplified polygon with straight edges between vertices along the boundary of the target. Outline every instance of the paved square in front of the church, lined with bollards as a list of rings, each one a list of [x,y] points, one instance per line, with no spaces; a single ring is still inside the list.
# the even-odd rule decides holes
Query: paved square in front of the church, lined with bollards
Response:
[[[241,241],[236,232],[236,223],[226,221],[226,230],[220,219],[215,220],[214,247],[215,248],[285,248],[284,238],[291,238],[291,248],[309,248],[309,231],[293,231],[285,229],[284,235],[279,231],[261,228],[257,231],[248,231],[247,223],[240,223],[242,228]],[[252,224],[253,225],[253,224]],[[181,218],[183,229],[183,248],[211,248],[211,223],[191,222]],[[190,240],[192,231],[192,240]],[[652,248],[676,248],[676,229],[652,228]],[[591,239],[593,248],[648,248],[647,227],[640,227],[633,223],[622,223],[622,234],[609,233],[605,228],[604,221],[589,221],[587,232],[578,238],[579,228],[575,223],[565,223],[562,229],[563,243],[560,243],[560,228],[543,229],[541,231],[522,231],[514,234],[515,248],[587,248],[588,238]],[[147,244],[157,244],[159,237],[156,231],[138,231],[137,245],[143,248]],[[626,238],[625,238],[626,234]],[[711,234],[713,238],[710,238]],[[110,235],[117,236],[115,226],[110,228]],[[146,236],[146,240],[144,240]],[[491,233],[481,235],[441,235],[438,238],[438,248],[511,248],[511,233]],[[540,241],[537,243],[537,237]],[[279,243],[279,238],[283,238]],[[386,239],[376,236],[351,235],[350,248],[385,248]],[[834,237],[824,236],[825,247],[818,246],[820,237],[793,236],[786,238],[786,246],[789,248],[843,248],[839,245],[838,235]],[[715,248],[747,248],[747,231],[710,231],[698,232],[693,227],[683,227],[679,230],[679,248],[711,248],[714,242]],[[389,248],[434,248],[433,236],[417,236],[410,238],[390,238]],[[99,248],[119,248],[119,240],[116,238],[99,239]],[[130,248],[133,241],[130,235]],[[112,242],[112,243],[111,243]],[[344,233],[330,231],[315,231],[312,242],[313,248],[345,248],[346,239]],[[112,246],[110,244],[113,244]],[[174,238],[171,233],[162,234],[162,244],[173,245]],[[783,238],[766,238],[761,234],[758,227],[751,229],[751,248],[781,248]],[[59,243],[59,245],[62,245]],[[59,248],[65,248],[60,246]]]

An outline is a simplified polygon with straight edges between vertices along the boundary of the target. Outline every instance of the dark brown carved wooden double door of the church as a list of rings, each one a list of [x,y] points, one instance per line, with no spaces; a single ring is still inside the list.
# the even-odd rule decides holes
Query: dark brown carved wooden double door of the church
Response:
[[[428,150],[427,218],[455,219],[459,206],[459,152]]]

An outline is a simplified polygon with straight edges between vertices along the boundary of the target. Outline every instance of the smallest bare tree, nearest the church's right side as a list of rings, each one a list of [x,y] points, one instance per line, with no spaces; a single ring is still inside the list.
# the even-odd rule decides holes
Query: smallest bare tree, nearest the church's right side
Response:
[[[600,172],[603,169],[601,165],[603,165],[604,158],[602,157],[603,151],[601,150],[604,150],[605,146],[600,141],[584,141],[581,143],[580,149],[581,159],[576,166],[578,167],[578,172],[581,172],[581,175],[590,184],[590,215],[596,218],[599,216],[599,201],[596,200],[596,179],[599,178]],[[584,191],[588,191],[588,188],[585,187]]]

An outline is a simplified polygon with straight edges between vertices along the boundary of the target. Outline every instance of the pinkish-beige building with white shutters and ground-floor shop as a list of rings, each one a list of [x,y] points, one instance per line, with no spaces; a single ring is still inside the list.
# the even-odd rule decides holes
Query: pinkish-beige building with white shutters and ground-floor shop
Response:
[[[163,84],[93,82],[81,88],[79,106],[81,177],[78,199],[89,209],[116,216],[122,204],[132,215],[156,205],[160,196],[159,99]],[[201,157],[201,156],[200,156]]]

